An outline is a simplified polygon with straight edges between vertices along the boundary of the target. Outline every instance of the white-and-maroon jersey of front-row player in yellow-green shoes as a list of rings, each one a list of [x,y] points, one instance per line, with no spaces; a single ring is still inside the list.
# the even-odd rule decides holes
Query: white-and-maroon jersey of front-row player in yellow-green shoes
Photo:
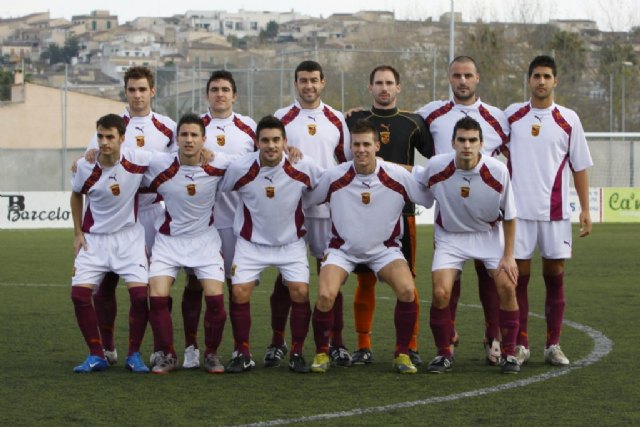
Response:
[[[427,188],[409,172],[382,160],[369,175],[356,173],[353,162],[325,171],[305,204],[325,200],[331,210],[329,247],[362,257],[401,246],[405,203],[433,204]]]

